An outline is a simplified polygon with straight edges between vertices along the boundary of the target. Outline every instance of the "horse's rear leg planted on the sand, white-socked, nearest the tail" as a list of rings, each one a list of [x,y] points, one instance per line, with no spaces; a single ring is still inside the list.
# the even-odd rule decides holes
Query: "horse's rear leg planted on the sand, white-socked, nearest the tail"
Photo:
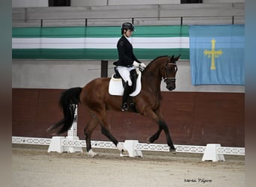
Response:
[[[89,121],[88,125],[85,127],[85,141],[86,141],[86,150],[88,152],[88,155],[91,157],[97,156],[97,153],[94,153],[94,151],[91,149],[91,134],[94,132],[95,127],[97,126],[97,119],[92,117]]]

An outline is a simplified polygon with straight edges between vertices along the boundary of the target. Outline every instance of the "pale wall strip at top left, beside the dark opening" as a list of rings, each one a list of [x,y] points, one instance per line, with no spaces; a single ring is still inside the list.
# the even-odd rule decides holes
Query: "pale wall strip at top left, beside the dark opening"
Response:
[[[12,7],[48,7],[48,0],[12,0]]]

